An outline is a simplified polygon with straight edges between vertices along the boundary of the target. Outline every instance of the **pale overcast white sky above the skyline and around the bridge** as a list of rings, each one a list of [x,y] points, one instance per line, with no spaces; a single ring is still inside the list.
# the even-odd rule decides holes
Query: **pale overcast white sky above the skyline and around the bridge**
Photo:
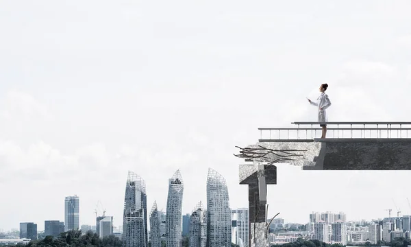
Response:
[[[234,146],[316,121],[306,97],[322,83],[329,121],[410,121],[410,12],[407,0],[0,1],[0,229],[42,231],[74,194],[80,224],[95,224],[100,201],[119,226],[128,170],[149,209],[166,208],[180,169],[191,213],[208,167],[231,207],[247,207]],[[270,217],[411,214],[411,171],[278,167]]]

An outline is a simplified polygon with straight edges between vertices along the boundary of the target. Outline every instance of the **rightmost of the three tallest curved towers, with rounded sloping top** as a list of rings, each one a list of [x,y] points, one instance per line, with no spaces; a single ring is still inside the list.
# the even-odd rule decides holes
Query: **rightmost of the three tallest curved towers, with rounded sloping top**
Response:
[[[206,247],[231,246],[231,209],[225,178],[208,169],[207,178],[207,242]]]

